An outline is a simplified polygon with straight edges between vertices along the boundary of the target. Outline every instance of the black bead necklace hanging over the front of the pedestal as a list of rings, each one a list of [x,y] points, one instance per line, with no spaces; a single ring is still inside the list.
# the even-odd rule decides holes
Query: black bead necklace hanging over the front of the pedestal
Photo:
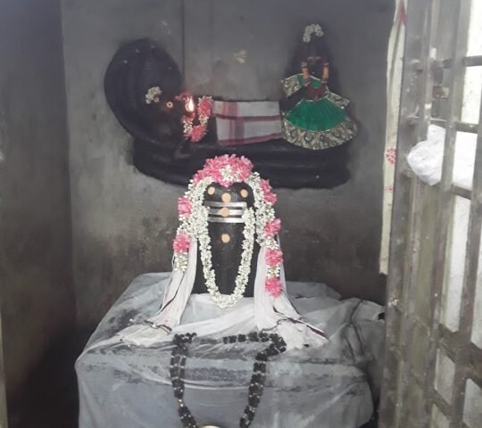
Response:
[[[188,356],[187,345],[193,342],[195,333],[175,334],[172,343],[174,348],[170,356],[170,380],[174,389],[174,397],[179,402],[179,417],[185,428],[198,428],[194,416],[184,402],[184,374]],[[253,422],[256,409],[260,404],[264,383],[266,381],[266,363],[268,358],[281,354],[287,350],[287,344],[278,334],[258,333],[238,334],[237,336],[223,337],[220,341],[208,339],[200,340],[200,343],[236,343],[236,342],[270,342],[268,348],[258,352],[253,364],[253,375],[249,383],[248,403],[245,413],[239,421],[241,428],[247,428]]]

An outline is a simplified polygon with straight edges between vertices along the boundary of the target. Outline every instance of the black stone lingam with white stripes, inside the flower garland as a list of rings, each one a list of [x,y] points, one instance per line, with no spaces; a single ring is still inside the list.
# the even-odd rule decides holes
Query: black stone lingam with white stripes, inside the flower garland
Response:
[[[214,221],[208,222],[209,235],[212,245],[212,268],[216,273],[216,284],[222,294],[231,294],[235,289],[237,269],[241,263],[242,245],[244,241],[244,223],[226,222],[233,218],[240,218],[240,209],[232,205],[237,202],[245,202],[246,207],[254,206],[253,190],[245,183],[235,183],[229,187],[224,187],[217,183],[209,185],[204,193],[204,205],[214,202],[216,215]],[[251,260],[251,272],[246,284],[245,297],[253,297],[254,277],[256,276],[256,265],[260,246],[254,242],[253,258]],[[195,273],[194,293],[207,292],[203,264],[201,256],[197,256],[197,266]]]

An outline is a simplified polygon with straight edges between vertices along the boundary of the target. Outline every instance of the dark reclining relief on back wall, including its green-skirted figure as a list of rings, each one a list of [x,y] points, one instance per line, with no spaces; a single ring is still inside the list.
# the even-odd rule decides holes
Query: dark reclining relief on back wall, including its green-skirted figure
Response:
[[[192,95],[179,66],[153,40],[122,45],[105,73],[107,101],[133,137],[144,174],[187,185],[204,161],[246,156],[271,185],[333,188],[345,183],[356,125],[348,100],[328,88],[328,53],[318,24],[306,27],[280,82],[278,101]]]

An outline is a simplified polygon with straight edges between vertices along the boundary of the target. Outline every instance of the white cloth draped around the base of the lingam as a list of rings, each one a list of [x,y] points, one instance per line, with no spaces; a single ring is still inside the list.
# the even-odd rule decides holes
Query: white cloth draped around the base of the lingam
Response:
[[[253,330],[278,333],[287,342],[287,349],[301,349],[305,344],[320,346],[327,342],[323,332],[307,325],[300,318],[287,298],[286,280],[281,272],[283,292],[273,297],[266,291],[267,265],[266,247],[258,256],[254,279],[253,298],[243,298],[228,309],[218,310],[210,294],[191,294],[195,282],[197,243],[193,241],[188,254],[185,272],[174,271],[169,280],[162,302],[162,309],[144,323],[129,325],[120,331],[112,342],[126,342],[136,346],[149,347],[154,343],[172,340],[174,333],[197,333],[198,336],[219,338],[229,334],[250,333]],[[212,307],[212,317],[196,319],[196,309]],[[190,311],[190,321],[182,322],[185,311]],[[106,343],[100,342],[100,345]]]

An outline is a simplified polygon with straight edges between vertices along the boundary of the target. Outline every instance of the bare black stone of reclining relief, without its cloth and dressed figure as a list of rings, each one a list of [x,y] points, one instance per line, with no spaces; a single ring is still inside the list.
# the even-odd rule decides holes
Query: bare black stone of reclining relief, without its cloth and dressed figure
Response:
[[[146,103],[149,88],[162,91],[155,103]],[[169,53],[148,39],[122,45],[104,78],[107,102],[120,125],[133,136],[133,163],[148,176],[187,185],[207,158],[237,154],[274,187],[332,188],[350,177],[348,144],[309,150],[283,139],[244,146],[217,144],[215,121],[199,143],[185,141],[181,124],[184,104],[176,99],[183,90],[179,67]]]

